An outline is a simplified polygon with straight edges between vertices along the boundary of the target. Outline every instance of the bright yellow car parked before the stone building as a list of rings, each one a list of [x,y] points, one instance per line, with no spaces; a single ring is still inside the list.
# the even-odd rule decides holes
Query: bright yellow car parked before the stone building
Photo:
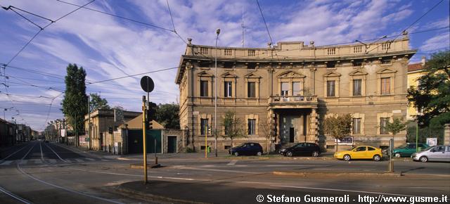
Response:
[[[338,151],[333,156],[346,161],[352,159],[373,159],[374,161],[379,161],[383,157],[383,153],[381,153],[380,148],[373,146],[356,146],[349,151]]]

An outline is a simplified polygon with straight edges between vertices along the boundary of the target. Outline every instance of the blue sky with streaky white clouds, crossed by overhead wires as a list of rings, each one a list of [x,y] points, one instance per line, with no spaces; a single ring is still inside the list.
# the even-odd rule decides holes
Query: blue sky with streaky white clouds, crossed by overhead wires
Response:
[[[89,2],[64,1],[78,5]],[[275,44],[314,41],[316,45],[327,45],[395,36],[439,1],[259,0],[259,4]],[[266,47],[270,41],[257,1],[168,2],[174,25],[167,1],[96,0],[86,8],[147,25],[82,8],[42,30],[16,58],[15,53],[40,30],[37,25],[44,27],[49,21],[15,9],[37,24],[33,25],[13,11],[1,9],[0,63],[8,66],[1,69],[0,82],[6,82],[8,87],[0,83],[0,108],[14,107],[4,112],[6,119],[15,117],[19,123],[42,130],[46,121],[62,118],[60,90],[65,89],[63,77],[68,63],[85,68],[87,79],[95,82],[174,68],[186,49],[181,39],[186,41],[190,37],[193,44],[214,45],[217,27],[221,28],[219,46],[241,46],[243,11],[245,46]],[[77,8],[56,0],[0,0],[0,5],[14,6],[51,20]],[[429,53],[449,49],[449,24],[449,0],[443,0],[409,27],[411,48],[418,49],[410,63],[419,61],[421,56],[429,57]],[[168,31],[174,27],[180,37]],[[175,75],[176,69],[150,74],[156,84],[150,95],[152,101],[177,103]],[[140,77],[90,84],[87,91],[101,94],[112,106],[139,111],[144,94],[139,87]]]

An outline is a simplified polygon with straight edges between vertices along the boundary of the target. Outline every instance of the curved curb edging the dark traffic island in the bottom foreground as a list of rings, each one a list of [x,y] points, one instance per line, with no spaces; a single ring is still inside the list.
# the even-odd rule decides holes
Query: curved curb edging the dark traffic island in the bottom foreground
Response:
[[[186,204],[209,204],[209,203],[203,203],[203,202],[197,202],[197,201],[192,201],[192,200],[181,200],[181,199],[176,199],[176,198],[169,198],[169,197],[165,197],[165,196],[157,196],[154,194],[150,194],[150,193],[142,193],[141,191],[134,191],[131,189],[124,189],[121,188],[120,186],[117,186],[115,188],[116,192],[122,194],[122,196],[128,196],[130,197],[132,194],[133,196],[136,196],[138,198],[141,198],[143,200],[151,200],[151,201],[155,201],[155,202],[170,202],[170,203],[186,203]]]

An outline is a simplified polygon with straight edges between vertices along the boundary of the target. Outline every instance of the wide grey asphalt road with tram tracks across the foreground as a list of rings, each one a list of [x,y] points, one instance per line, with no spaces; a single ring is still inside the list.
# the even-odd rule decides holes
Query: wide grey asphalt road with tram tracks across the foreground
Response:
[[[137,186],[138,190],[155,187],[164,196],[207,203],[258,203],[258,195],[264,196],[264,202],[268,195],[302,199],[305,195],[349,195],[349,203],[368,203],[358,196],[450,196],[448,162],[395,161],[395,171],[404,172],[404,177],[292,177],[272,172],[382,172],[387,161],[158,156],[164,167],[148,170],[150,185]],[[153,155],[148,158],[153,162]],[[140,155],[117,158],[39,141],[15,146],[0,160],[0,203],[158,203],[115,191],[119,184],[142,181],[143,170],[130,168],[139,163]]]

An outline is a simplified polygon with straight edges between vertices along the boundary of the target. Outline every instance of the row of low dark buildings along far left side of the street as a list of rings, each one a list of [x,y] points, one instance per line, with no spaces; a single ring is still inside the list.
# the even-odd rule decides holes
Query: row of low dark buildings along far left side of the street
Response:
[[[39,138],[39,132],[30,126],[15,124],[0,118],[0,146],[12,146],[18,142],[31,141]]]

